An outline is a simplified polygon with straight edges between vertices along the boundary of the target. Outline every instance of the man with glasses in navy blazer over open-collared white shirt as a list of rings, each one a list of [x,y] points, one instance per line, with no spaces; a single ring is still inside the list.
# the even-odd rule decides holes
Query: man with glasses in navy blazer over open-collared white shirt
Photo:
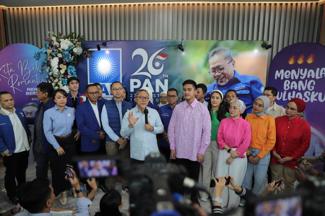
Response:
[[[76,110],[77,126],[81,134],[81,154],[105,154],[105,144],[102,142],[105,139],[105,132],[101,122],[104,102],[98,100],[99,91],[94,84],[86,86],[86,96],[88,100],[78,105]],[[98,180],[98,189],[107,193],[105,178]]]

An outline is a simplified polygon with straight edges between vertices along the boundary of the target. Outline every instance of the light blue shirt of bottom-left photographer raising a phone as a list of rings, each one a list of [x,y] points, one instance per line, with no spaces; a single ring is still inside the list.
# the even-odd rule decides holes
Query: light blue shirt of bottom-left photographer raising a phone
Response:
[[[92,202],[86,197],[77,198],[76,199],[77,213],[73,214],[72,216],[89,216],[88,205],[90,205],[91,203]],[[57,215],[56,213],[53,214]],[[24,209],[24,212],[19,212],[16,215],[17,216],[52,216],[52,213],[29,213],[26,209]]]

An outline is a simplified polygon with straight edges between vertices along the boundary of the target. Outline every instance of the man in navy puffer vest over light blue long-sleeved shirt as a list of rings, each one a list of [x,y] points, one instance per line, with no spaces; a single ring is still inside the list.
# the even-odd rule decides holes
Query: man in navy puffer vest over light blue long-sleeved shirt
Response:
[[[116,81],[111,84],[113,99],[107,101],[102,111],[102,123],[106,132],[106,153],[119,155],[121,159],[130,158],[130,145],[126,137],[120,135],[123,116],[132,109],[132,104],[122,99],[123,85]],[[108,178],[109,189],[115,189],[116,178]],[[122,193],[128,193],[128,181],[122,178]]]

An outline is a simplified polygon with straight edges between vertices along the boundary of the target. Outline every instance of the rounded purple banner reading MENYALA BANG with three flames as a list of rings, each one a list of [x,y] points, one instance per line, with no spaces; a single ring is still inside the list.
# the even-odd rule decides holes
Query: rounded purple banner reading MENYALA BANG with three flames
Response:
[[[279,52],[269,70],[268,85],[279,93],[277,101],[285,106],[292,98],[306,102],[306,120],[312,135],[325,149],[325,47],[312,42],[299,42]]]

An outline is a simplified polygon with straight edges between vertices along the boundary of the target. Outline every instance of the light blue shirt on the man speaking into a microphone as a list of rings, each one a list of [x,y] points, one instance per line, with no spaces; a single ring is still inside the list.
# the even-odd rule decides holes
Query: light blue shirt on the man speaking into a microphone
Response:
[[[138,106],[125,113],[121,126],[121,136],[127,137],[130,135],[131,158],[136,160],[144,160],[150,152],[159,152],[156,134],[164,132],[164,125],[160,120],[158,112],[150,107],[147,107],[147,109],[148,121],[153,126],[153,132],[146,131],[144,128],[145,115],[138,109]],[[140,119],[132,128],[129,128],[127,117],[131,111],[133,111],[134,118],[140,117]]]

